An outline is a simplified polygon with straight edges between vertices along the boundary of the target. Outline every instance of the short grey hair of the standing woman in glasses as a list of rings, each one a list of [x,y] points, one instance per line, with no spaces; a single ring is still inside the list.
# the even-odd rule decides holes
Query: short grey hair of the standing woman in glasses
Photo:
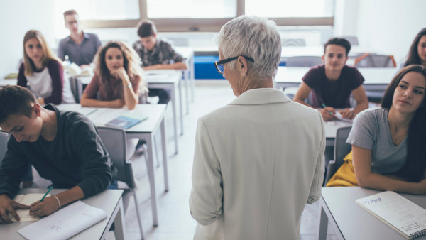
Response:
[[[274,21],[256,16],[234,18],[222,26],[217,44],[224,58],[253,58],[254,62],[248,63],[260,80],[275,77],[281,58],[281,38]],[[235,67],[235,61],[230,62],[230,67]]]

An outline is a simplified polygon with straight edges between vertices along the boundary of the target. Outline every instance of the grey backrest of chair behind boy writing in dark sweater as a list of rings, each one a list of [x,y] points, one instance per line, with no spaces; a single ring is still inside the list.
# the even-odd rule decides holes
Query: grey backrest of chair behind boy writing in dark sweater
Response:
[[[117,179],[126,182],[129,188],[135,188],[131,161],[126,160],[126,131],[111,126],[98,126],[97,130],[111,162],[117,169]]]

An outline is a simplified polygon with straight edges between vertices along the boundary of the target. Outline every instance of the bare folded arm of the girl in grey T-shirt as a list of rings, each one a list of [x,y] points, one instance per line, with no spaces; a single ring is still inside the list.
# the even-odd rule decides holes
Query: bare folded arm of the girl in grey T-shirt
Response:
[[[352,145],[356,181],[360,187],[391,190],[410,194],[425,194],[426,181],[408,182],[373,173],[371,171],[371,150]]]

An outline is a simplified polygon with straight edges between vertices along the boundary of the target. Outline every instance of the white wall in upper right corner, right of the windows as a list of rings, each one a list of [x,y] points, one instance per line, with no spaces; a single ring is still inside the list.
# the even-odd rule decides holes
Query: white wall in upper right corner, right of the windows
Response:
[[[356,35],[360,45],[392,54],[400,62],[426,27],[425,10],[425,0],[359,0]]]

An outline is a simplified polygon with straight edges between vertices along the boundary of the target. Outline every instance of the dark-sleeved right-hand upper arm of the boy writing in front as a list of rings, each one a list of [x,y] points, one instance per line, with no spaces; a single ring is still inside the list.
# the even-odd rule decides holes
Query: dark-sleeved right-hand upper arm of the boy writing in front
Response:
[[[84,124],[76,123],[70,128],[70,138],[81,161],[82,181],[77,184],[84,197],[91,197],[107,189],[111,183],[111,167],[108,153],[103,148],[97,131],[88,119]]]

